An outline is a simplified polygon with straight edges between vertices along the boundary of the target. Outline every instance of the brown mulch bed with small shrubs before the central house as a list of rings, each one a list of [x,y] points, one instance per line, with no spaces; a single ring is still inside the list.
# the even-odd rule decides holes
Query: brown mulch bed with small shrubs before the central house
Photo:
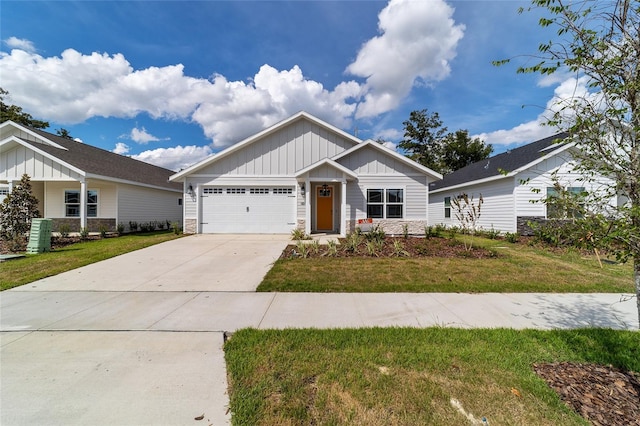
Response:
[[[310,241],[302,241],[302,244],[308,245],[308,253],[301,254],[298,244],[290,244],[282,252],[282,259],[296,257],[324,257],[329,256],[328,247],[320,245],[318,251],[314,251]],[[396,247],[398,245],[398,247]],[[455,257],[455,258],[472,258],[485,259],[496,257],[495,251],[472,246],[470,249],[465,248],[462,241],[448,238],[418,238],[418,237],[386,237],[384,244],[377,247],[373,254],[369,253],[367,248],[367,240],[358,246],[357,251],[350,250],[345,239],[340,239],[340,245],[334,257]]]

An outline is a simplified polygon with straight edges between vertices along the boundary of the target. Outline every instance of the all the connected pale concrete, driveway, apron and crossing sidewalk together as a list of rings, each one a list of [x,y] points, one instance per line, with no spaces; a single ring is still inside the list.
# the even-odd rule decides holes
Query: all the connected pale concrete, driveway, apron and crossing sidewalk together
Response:
[[[287,243],[187,237],[1,292],[0,424],[228,424],[245,327],[638,327],[618,294],[255,293]]]

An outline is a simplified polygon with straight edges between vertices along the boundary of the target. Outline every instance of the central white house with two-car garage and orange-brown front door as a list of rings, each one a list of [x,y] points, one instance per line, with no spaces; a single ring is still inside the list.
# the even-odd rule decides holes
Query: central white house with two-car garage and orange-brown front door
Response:
[[[188,233],[422,233],[441,175],[300,112],[171,177]]]

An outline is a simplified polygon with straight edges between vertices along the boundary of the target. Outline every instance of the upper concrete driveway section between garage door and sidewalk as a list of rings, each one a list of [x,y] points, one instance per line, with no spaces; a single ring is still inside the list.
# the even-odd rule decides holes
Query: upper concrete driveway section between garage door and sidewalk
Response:
[[[192,235],[20,287],[20,291],[255,291],[287,235]]]

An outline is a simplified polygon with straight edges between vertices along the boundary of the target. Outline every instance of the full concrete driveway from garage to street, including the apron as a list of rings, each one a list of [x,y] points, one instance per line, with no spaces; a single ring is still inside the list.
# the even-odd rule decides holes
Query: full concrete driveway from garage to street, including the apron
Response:
[[[222,331],[270,300],[230,296],[288,241],[194,235],[0,293],[0,424],[228,424]]]

